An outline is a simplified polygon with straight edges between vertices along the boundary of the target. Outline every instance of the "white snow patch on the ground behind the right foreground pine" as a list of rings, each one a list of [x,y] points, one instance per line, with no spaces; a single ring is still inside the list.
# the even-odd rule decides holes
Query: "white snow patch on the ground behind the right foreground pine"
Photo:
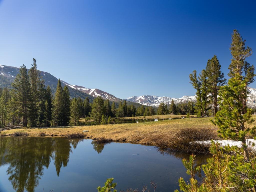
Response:
[[[241,141],[232,141],[232,140],[213,140],[215,143],[218,142],[220,144],[221,147],[225,147],[225,146],[238,146],[238,147],[241,147],[242,146],[242,142]],[[211,141],[195,141],[196,143],[199,143],[199,144],[204,144],[204,145],[209,145],[211,144]],[[249,147],[252,146],[252,143],[255,143],[256,140],[254,139],[247,139],[246,140],[247,142],[247,145]],[[193,143],[193,142],[192,142]],[[254,147],[256,149],[256,146]]]

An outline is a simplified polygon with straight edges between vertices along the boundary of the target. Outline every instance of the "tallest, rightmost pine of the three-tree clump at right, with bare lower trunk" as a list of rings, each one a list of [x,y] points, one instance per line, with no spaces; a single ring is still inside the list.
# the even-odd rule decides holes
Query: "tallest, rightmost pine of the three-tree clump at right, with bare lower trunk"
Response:
[[[218,93],[221,86],[223,86],[227,79],[224,78],[224,73],[221,72],[221,65],[216,55],[208,60],[206,65],[206,73],[209,81],[209,90],[214,101],[214,114],[218,111]]]

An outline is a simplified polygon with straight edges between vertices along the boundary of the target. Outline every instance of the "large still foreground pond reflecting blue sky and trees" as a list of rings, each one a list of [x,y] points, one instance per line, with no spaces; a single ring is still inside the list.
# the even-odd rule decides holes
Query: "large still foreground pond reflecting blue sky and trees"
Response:
[[[118,191],[150,187],[173,191],[178,178],[188,180],[182,158],[153,146],[97,143],[62,137],[0,137],[0,191],[97,191],[114,177]],[[196,164],[204,164],[205,156]]]

